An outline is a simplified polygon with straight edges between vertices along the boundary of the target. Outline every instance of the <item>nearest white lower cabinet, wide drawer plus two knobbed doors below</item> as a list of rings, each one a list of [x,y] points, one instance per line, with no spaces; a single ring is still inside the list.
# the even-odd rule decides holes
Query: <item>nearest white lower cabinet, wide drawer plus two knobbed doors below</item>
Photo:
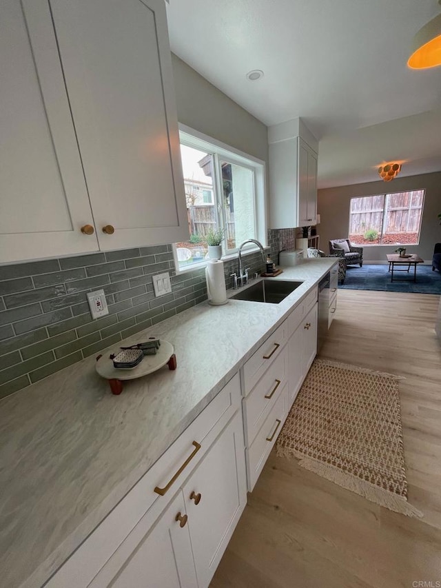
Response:
[[[238,374],[46,588],[207,588],[247,503]]]

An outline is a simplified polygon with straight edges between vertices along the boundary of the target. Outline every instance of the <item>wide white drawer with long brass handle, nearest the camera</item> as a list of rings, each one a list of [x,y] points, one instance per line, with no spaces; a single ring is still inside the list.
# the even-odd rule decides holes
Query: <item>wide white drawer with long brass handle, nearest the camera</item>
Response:
[[[236,374],[74,551],[45,588],[88,586],[149,509],[149,519],[155,520],[161,514],[216,436],[240,409],[240,401],[240,379]],[[156,487],[162,489],[162,496],[155,491]]]

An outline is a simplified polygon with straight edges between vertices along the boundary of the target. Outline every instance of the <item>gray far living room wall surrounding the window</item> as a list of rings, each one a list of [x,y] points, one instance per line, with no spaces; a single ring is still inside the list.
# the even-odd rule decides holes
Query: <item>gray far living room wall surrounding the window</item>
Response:
[[[438,213],[441,212],[441,172],[396,178],[387,184],[383,181],[353,184],[318,190],[317,209],[320,214],[320,249],[329,252],[329,239],[348,236],[349,203],[353,196],[372,196],[389,192],[424,189],[424,210],[419,245],[409,245],[407,252],[416,252],[426,263],[431,263],[433,245],[441,241],[441,226]],[[365,261],[386,263],[386,254],[393,253],[393,245],[371,245],[365,247]]]

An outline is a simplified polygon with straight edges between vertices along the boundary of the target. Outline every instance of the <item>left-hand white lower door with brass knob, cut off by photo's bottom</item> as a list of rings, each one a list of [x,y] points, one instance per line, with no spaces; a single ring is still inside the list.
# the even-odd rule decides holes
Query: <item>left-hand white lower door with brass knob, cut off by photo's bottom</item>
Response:
[[[176,520],[176,515],[181,520]],[[90,588],[197,587],[189,527],[185,520],[185,505],[180,491],[141,542],[127,545],[130,557],[124,559],[120,556],[119,551],[125,551],[126,547],[123,543],[92,581]],[[181,521],[185,522],[183,527]],[[142,524],[143,520],[138,526]],[[139,531],[135,527],[125,543],[130,543],[132,536],[139,534]]]

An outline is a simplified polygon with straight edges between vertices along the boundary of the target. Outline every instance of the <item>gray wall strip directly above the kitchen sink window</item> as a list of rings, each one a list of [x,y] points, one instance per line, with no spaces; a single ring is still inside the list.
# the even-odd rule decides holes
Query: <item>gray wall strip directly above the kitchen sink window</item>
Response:
[[[172,54],[178,121],[268,163],[267,127]]]

